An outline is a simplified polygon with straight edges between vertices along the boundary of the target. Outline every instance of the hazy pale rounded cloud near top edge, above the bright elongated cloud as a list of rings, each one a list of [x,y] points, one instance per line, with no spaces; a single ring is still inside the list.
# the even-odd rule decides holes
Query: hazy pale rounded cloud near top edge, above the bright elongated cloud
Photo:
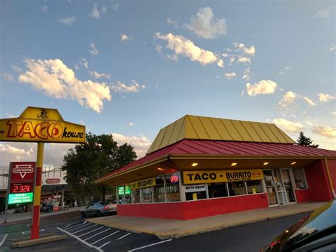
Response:
[[[216,38],[219,35],[225,35],[228,29],[225,18],[216,19],[213,17],[213,11],[210,7],[199,9],[196,16],[190,18],[190,23],[186,28],[193,31],[201,38]]]

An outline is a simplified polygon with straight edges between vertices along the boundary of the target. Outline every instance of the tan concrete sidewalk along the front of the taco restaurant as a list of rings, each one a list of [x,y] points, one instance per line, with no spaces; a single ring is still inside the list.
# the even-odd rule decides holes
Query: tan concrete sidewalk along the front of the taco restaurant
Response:
[[[170,219],[150,219],[142,217],[109,216],[87,219],[94,224],[102,224],[116,229],[135,233],[154,234],[159,239],[172,239],[192,234],[225,229],[266,219],[285,217],[293,214],[311,212],[326,202],[291,204],[289,206],[269,207],[233,214],[216,215],[187,221]]]

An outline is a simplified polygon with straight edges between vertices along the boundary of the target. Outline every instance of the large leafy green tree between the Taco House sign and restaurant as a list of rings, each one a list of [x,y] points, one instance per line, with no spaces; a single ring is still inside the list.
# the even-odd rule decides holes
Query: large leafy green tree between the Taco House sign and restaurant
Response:
[[[68,150],[62,170],[67,171],[65,180],[79,198],[90,195],[105,200],[106,185],[96,185],[95,180],[108,172],[121,168],[137,158],[128,143],[118,146],[111,135],[86,135],[86,142]]]

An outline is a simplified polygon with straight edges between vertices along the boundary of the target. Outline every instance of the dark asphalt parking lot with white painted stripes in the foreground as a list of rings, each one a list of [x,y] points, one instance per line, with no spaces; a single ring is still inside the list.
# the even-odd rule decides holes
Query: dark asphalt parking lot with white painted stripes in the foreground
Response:
[[[0,251],[259,251],[281,231],[305,216],[296,214],[164,240],[151,234],[137,234],[93,224],[80,217],[66,221],[49,219],[41,224],[40,234],[67,234],[67,239],[26,248],[10,248],[13,239],[29,235],[29,225],[0,226],[0,243],[7,235]]]

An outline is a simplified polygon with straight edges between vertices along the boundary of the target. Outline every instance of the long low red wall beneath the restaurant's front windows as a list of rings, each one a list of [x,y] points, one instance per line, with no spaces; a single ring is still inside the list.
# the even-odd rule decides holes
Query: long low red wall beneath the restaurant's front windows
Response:
[[[266,194],[259,194],[190,202],[118,204],[118,215],[186,220],[266,207]]]

